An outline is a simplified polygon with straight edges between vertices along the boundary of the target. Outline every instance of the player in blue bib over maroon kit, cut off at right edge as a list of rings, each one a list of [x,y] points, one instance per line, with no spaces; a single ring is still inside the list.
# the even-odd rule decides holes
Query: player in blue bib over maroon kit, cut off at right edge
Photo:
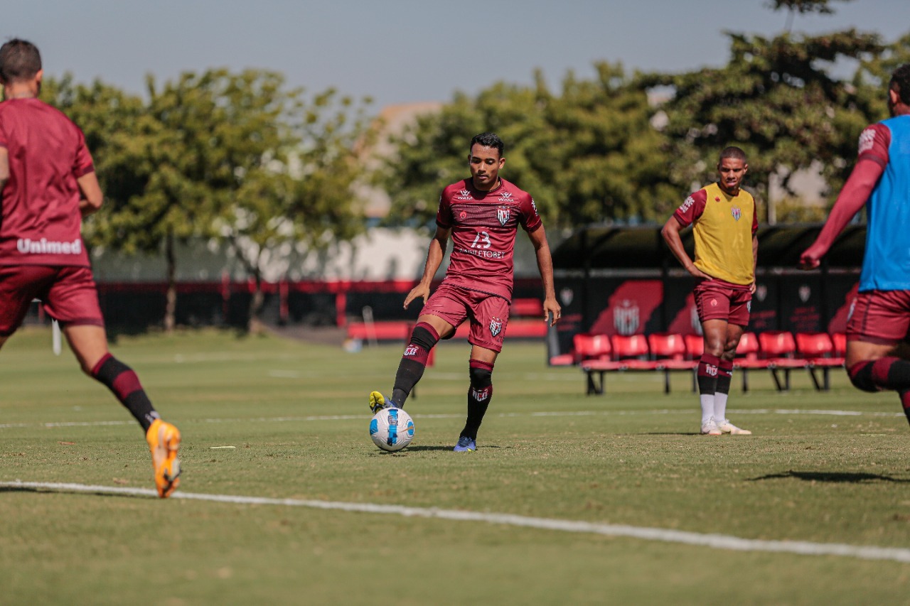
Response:
[[[865,206],[863,269],[844,367],[857,389],[894,389],[910,420],[910,64],[895,69],[886,96],[891,117],[860,134],[856,166],[800,267],[817,268]]]

